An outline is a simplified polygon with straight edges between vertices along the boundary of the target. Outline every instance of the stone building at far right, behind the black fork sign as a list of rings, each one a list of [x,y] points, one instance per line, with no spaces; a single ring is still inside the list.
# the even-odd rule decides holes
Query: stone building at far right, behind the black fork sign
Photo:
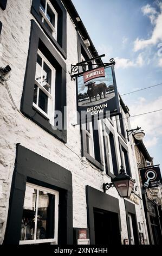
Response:
[[[153,166],[153,158],[144,143],[134,138],[134,145],[138,168]],[[142,187],[141,179],[140,183],[150,244],[159,245],[162,241],[161,187],[145,189]]]

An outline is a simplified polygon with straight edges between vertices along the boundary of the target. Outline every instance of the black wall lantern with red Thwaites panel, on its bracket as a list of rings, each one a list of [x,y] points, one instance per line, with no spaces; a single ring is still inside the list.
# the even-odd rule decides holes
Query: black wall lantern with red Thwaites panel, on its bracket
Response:
[[[103,183],[103,191],[106,192],[110,187],[115,187],[122,198],[131,196],[135,180],[126,174],[125,169],[121,166],[120,173],[112,179],[112,183]]]

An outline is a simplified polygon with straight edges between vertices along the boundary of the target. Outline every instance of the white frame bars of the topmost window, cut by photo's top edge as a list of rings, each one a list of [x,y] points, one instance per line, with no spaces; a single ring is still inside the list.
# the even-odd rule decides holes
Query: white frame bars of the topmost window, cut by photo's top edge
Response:
[[[48,20],[47,18],[47,5],[49,5],[51,11],[53,11],[54,15],[55,15],[55,27],[51,24],[51,22]],[[51,4],[51,2],[49,0],[46,0],[46,7],[45,7],[45,13],[42,10],[42,8],[40,7],[40,13],[42,15],[42,22],[44,23],[44,20],[46,20],[46,22],[48,23],[49,27],[51,28],[51,30],[53,31],[53,37],[56,39],[57,38],[57,21],[58,21],[58,14],[55,10],[55,8],[53,7],[53,5]]]

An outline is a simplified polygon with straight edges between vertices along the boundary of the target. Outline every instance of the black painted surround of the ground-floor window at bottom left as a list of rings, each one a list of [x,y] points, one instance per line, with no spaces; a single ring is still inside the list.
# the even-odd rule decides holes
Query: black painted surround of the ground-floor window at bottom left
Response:
[[[59,191],[59,245],[73,244],[72,173],[17,144],[12,178],[5,245],[18,245],[23,216],[26,184],[35,184]]]

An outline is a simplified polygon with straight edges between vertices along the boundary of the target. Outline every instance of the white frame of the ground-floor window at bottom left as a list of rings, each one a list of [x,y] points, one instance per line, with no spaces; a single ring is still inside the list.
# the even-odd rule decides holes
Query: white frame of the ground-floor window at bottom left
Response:
[[[37,197],[36,197],[36,209],[35,209],[35,231],[34,231],[34,240],[20,240],[20,245],[34,245],[36,243],[52,243],[53,245],[57,245],[58,243],[58,221],[59,221],[59,192],[55,190],[51,190],[50,188],[37,186],[34,184],[30,184],[27,182],[26,186],[29,186],[35,190],[37,190]],[[36,239],[36,231],[37,231],[37,210],[38,210],[38,194],[39,191],[47,192],[50,194],[55,195],[55,232],[54,232],[54,239]]]

